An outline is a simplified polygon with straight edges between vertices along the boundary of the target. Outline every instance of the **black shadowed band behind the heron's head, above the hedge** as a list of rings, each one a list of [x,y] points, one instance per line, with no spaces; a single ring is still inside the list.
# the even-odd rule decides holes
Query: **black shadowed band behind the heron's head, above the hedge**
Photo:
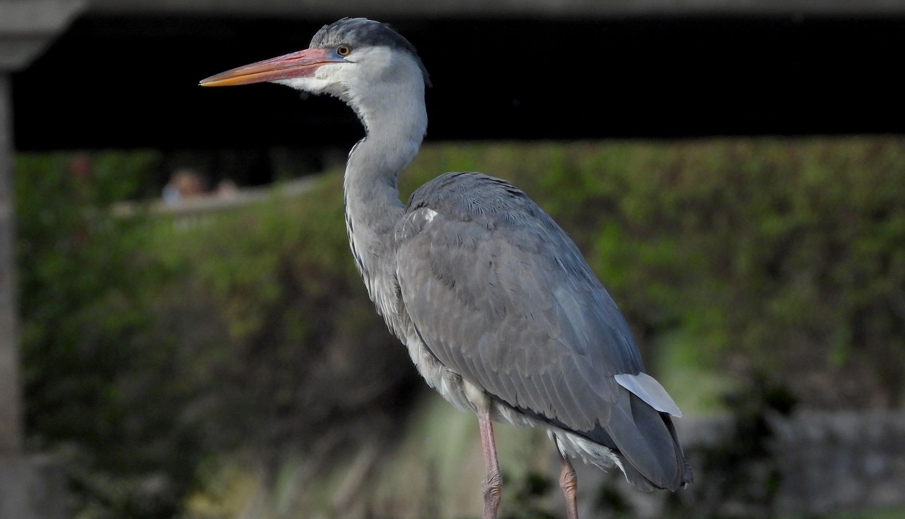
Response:
[[[348,149],[361,129],[333,99],[196,86],[323,22],[82,18],[14,76],[16,147]],[[905,18],[388,22],[432,74],[429,140],[905,131]]]

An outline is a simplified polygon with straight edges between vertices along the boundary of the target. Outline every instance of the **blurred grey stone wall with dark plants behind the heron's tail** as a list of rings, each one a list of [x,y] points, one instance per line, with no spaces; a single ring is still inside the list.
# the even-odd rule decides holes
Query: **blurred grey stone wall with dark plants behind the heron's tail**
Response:
[[[618,497],[586,502],[583,510],[765,517],[905,507],[905,411],[798,411],[758,420],[766,425],[761,434],[731,416],[678,420],[691,486],[640,493],[616,470],[585,469],[582,485],[612,488]]]

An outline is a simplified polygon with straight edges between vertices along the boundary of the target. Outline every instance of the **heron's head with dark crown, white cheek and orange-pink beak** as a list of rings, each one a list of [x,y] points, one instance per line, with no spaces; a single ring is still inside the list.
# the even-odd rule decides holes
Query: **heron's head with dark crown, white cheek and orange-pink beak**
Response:
[[[225,71],[205,87],[270,81],[294,89],[326,93],[360,108],[400,87],[424,90],[427,72],[411,43],[385,24],[367,18],[343,18],[324,25],[310,48]]]

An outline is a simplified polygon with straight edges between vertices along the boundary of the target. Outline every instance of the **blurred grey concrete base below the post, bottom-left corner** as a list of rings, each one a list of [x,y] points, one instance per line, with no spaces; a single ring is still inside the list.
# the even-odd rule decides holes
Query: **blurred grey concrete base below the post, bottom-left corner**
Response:
[[[66,479],[59,463],[45,456],[0,459],[0,517],[65,516]]]

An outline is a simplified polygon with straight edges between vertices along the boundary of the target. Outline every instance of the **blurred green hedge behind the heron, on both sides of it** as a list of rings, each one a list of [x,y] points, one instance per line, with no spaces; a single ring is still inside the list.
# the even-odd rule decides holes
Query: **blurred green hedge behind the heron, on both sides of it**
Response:
[[[219,452],[391,435],[423,387],[357,278],[340,172],[197,222],[114,217],[159,162],[17,162],[28,430],[69,461],[81,517],[176,514]],[[900,138],[433,145],[403,196],[454,170],[508,178],[557,219],[651,371],[682,359],[774,373],[811,406],[900,405]]]

